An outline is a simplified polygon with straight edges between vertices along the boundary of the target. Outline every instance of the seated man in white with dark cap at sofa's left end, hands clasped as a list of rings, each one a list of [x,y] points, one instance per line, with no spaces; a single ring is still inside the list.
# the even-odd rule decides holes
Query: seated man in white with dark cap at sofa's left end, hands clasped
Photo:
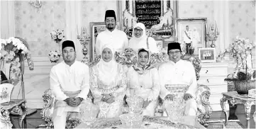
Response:
[[[63,62],[50,71],[50,89],[56,98],[52,120],[54,128],[65,128],[67,112],[79,112],[89,93],[89,67],[76,59],[74,43],[62,43]]]

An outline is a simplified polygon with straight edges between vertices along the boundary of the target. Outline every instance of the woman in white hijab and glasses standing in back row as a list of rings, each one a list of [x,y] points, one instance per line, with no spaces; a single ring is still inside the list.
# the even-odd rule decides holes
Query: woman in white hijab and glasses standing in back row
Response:
[[[153,53],[159,52],[154,38],[146,35],[146,29],[143,23],[137,23],[134,26],[133,38],[130,38],[128,47],[132,48],[135,52],[140,48],[148,49]]]

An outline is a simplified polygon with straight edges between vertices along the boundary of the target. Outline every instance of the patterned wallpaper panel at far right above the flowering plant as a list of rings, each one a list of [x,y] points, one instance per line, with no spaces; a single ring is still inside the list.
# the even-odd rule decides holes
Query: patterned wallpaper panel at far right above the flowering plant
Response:
[[[255,41],[255,6],[252,1],[229,1],[230,40],[237,35]]]

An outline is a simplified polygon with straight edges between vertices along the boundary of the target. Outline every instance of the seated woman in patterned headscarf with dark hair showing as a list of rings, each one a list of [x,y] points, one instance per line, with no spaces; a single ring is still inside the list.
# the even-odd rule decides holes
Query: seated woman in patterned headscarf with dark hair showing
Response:
[[[138,50],[138,63],[128,69],[127,96],[140,96],[144,99],[143,116],[155,116],[160,82],[156,68],[150,67],[150,52]]]

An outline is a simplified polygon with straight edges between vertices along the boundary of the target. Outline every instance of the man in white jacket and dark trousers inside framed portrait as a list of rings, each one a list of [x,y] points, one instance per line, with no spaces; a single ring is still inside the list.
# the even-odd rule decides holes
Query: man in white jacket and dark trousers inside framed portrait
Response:
[[[186,54],[189,54],[189,47],[191,46],[192,40],[191,40],[191,31],[189,30],[189,26],[186,26],[186,30],[184,30],[183,33],[183,41],[186,45]]]

